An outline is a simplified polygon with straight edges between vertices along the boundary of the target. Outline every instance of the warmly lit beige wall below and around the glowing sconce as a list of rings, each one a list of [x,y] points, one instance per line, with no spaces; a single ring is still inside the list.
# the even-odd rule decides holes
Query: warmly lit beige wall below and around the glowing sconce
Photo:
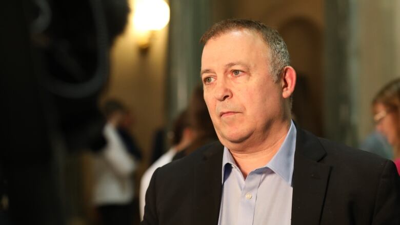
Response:
[[[131,131],[147,162],[154,131],[165,122],[168,26],[154,32],[150,48],[141,52],[131,18],[132,15],[125,32],[112,47],[110,80],[102,100],[121,99],[132,111],[135,125]]]

